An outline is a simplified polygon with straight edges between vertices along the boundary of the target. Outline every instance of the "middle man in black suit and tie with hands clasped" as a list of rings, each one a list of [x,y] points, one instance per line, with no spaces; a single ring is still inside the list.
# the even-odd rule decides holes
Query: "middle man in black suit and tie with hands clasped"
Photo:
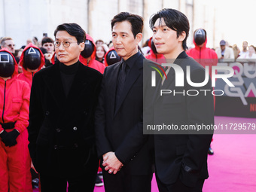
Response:
[[[105,69],[96,108],[96,145],[105,191],[151,191],[151,154],[143,135],[142,17],[122,12],[111,20],[120,62]]]

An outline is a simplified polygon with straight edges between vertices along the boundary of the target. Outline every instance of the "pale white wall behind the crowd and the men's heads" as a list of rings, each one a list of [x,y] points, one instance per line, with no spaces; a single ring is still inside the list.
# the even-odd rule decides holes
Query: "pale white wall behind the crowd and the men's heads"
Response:
[[[54,38],[53,32],[60,23],[78,23],[95,41],[101,38],[108,43],[111,41],[111,19],[120,11],[128,11],[144,18],[144,43],[152,35],[148,25],[151,15],[162,8],[175,8],[190,20],[190,38],[187,40],[190,47],[193,44],[192,30],[206,26],[201,23],[209,19],[201,17],[208,8],[206,3],[202,8],[202,2],[209,0],[0,0],[0,37],[11,36],[16,48],[20,48],[34,36],[41,41],[43,33]],[[208,25],[211,22],[208,20]],[[211,32],[208,34],[212,35]],[[212,44],[211,37],[209,41]]]

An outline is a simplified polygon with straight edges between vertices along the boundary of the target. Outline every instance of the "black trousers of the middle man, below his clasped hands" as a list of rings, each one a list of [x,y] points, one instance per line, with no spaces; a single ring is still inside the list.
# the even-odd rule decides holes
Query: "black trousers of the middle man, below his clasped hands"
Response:
[[[151,192],[151,175],[109,174],[102,169],[105,192]]]

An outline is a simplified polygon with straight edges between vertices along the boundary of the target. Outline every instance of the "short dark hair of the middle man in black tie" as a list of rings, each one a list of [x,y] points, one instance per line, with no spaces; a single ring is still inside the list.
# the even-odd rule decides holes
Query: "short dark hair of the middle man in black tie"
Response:
[[[120,12],[120,14],[117,14],[113,17],[113,19],[111,20],[111,30],[113,30],[115,23],[123,21],[128,21],[131,23],[134,38],[136,38],[136,35],[138,33],[142,33],[143,18],[137,14],[130,14],[128,12]]]

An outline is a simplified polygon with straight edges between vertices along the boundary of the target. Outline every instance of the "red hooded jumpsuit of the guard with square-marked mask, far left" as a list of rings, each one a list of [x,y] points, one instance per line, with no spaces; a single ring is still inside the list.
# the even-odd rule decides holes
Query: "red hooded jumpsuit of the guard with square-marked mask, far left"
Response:
[[[10,53],[8,50],[0,50]],[[11,54],[11,53],[10,53]],[[12,56],[12,55],[11,55]],[[14,56],[12,56],[14,59]],[[1,63],[0,63],[1,65]],[[29,126],[29,84],[17,79],[18,65],[14,59],[14,74],[5,81],[0,78],[0,133],[7,133],[16,129],[20,135],[17,136],[17,144],[6,146],[0,139],[0,191],[26,190],[26,163],[29,157],[28,131]],[[6,124],[13,126],[5,127]],[[31,177],[30,186],[32,190]]]

